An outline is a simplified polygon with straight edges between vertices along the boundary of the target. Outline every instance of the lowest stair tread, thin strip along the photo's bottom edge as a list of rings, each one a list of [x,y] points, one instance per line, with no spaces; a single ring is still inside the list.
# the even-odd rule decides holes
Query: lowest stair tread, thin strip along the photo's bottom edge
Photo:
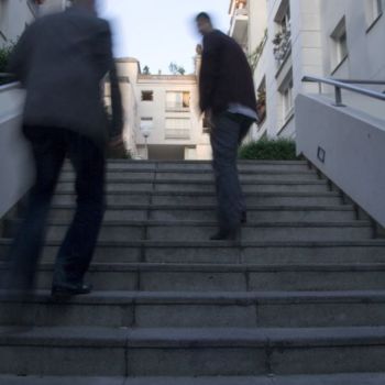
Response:
[[[15,377],[0,376],[0,385],[383,385],[384,373],[288,375],[255,377]]]

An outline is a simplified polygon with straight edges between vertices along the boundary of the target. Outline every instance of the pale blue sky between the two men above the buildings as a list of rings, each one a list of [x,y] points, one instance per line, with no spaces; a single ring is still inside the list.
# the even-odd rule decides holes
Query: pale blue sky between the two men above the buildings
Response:
[[[168,74],[170,62],[191,73],[201,42],[195,15],[209,12],[215,26],[227,33],[229,6],[230,0],[99,0],[99,14],[111,23],[117,57],[135,57],[152,74]]]

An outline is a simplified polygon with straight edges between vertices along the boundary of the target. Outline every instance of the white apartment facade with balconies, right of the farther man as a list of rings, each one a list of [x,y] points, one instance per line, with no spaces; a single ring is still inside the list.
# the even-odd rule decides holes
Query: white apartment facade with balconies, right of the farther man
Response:
[[[239,19],[237,7],[246,8],[248,22],[239,22],[243,33],[231,28],[230,34],[246,46],[263,118],[253,129],[255,140],[295,138],[297,95],[318,92],[318,86],[302,82],[304,76],[384,79],[385,53],[378,50],[384,0],[232,0],[232,21]]]

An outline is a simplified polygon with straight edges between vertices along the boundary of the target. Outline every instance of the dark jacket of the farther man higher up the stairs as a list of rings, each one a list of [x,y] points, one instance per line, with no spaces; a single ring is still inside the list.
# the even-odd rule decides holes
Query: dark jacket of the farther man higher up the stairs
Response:
[[[230,36],[213,31],[204,37],[199,76],[200,110],[226,111],[241,103],[256,111],[252,72],[241,46]]]

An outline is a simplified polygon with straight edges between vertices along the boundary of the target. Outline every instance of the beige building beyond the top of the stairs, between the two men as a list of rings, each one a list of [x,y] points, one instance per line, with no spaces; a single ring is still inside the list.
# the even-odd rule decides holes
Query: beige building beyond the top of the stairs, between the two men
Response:
[[[127,147],[135,158],[209,160],[198,109],[197,76],[145,75],[134,58],[117,61]],[[107,87],[107,99],[109,88]]]

